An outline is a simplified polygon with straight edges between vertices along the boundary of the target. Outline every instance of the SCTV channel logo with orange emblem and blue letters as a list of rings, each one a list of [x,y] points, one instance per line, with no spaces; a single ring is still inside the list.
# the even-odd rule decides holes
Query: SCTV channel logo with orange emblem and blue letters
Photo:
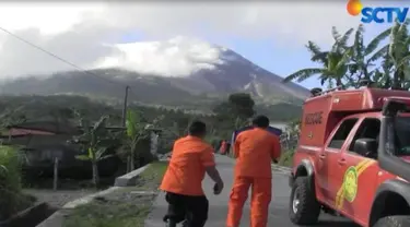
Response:
[[[409,8],[363,8],[360,0],[350,0],[347,5],[348,12],[351,15],[362,15],[362,23],[393,23],[396,20],[400,23],[406,21]]]

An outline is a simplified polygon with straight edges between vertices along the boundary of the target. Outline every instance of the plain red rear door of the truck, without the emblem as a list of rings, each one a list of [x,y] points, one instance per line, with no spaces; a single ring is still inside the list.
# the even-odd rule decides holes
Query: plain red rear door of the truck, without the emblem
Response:
[[[340,187],[340,178],[342,178],[341,152],[347,139],[358,122],[358,118],[347,118],[333,130],[329,140],[325,144],[325,148],[319,153],[318,157],[318,180],[324,199],[333,206],[336,204],[337,190]]]

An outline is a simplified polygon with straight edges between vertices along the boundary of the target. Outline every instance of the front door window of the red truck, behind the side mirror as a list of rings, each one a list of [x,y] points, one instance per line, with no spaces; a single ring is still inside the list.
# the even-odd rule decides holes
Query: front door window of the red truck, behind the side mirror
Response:
[[[359,139],[374,139],[378,141],[378,134],[380,133],[380,120],[377,118],[366,118],[360,124],[350,146],[349,152],[354,152],[354,143]]]

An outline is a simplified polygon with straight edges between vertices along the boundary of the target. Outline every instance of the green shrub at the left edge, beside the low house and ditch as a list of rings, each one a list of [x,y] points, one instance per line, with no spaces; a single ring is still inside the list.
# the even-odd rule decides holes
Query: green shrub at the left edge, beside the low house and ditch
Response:
[[[0,220],[30,206],[32,198],[21,193],[21,160],[15,148],[0,146]]]

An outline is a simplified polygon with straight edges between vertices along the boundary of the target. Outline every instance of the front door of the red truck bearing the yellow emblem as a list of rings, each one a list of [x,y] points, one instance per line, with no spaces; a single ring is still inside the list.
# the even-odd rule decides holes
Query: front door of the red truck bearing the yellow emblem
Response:
[[[338,210],[351,216],[360,223],[367,223],[371,211],[373,195],[376,191],[376,177],[378,166],[376,164],[377,150],[364,157],[354,151],[354,143],[359,139],[378,139],[380,131],[380,120],[376,117],[364,118],[358,130],[353,130],[354,136],[350,136],[345,152],[341,154],[340,165],[342,176],[337,179],[339,198],[336,199]],[[338,196],[337,195],[337,196]]]

